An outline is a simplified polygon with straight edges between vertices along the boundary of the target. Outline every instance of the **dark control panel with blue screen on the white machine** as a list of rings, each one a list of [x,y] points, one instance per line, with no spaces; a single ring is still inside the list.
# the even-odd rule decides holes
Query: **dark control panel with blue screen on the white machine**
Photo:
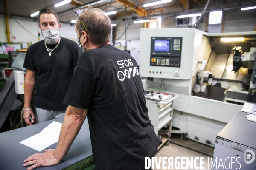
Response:
[[[151,37],[150,66],[180,67],[182,37]]]

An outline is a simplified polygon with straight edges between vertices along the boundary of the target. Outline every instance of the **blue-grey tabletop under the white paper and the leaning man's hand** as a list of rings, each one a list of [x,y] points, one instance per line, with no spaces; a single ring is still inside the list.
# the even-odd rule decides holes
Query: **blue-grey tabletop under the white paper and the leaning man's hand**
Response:
[[[51,122],[63,122],[63,118],[42,122],[39,124],[22,127],[16,130],[0,133],[0,169],[1,170],[26,170],[29,166],[23,167],[23,161],[34,153],[39,153],[30,147],[19,142],[40,133]],[[46,148],[55,149],[57,143]],[[42,150],[43,153],[45,150]],[[90,132],[87,119],[84,121],[79,134],[76,136],[67,155],[60,164],[50,167],[38,167],[36,170],[61,170],[89,156],[92,156]]]

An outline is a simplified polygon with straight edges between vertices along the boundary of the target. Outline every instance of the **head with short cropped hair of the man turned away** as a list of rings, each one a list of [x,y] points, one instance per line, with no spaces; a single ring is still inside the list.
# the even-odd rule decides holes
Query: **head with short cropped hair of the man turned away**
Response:
[[[79,17],[87,28],[90,40],[94,45],[104,45],[111,40],[111,20],[98,8],[86,8]],[[81,35],[85,31],[80,19],[76,19],[76,29]],[[86,32],[86,31],[85,31]]]

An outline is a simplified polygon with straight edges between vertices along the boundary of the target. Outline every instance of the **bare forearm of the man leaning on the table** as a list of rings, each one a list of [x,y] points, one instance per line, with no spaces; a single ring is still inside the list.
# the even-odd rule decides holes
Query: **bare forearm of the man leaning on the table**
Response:
[[[56,147],[55,158],[62,160],[70,149],[71,144],[75,140],[84,120],[87,116],[87,109],[81,113],[81,110],[76,110],[69,106],[65,113],[64,121],[61,127],[61,133]]]

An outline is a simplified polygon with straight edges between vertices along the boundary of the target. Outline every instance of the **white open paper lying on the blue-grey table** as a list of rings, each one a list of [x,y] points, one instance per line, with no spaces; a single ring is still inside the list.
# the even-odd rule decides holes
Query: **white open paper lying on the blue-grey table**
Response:
[[[40,133],[31,136],[30,138],[25,139],[20,143],[41,152],[45,148],[58,142],[61,132],[61,126],[62,123],[54,121],[50,125],[45,127]]]

